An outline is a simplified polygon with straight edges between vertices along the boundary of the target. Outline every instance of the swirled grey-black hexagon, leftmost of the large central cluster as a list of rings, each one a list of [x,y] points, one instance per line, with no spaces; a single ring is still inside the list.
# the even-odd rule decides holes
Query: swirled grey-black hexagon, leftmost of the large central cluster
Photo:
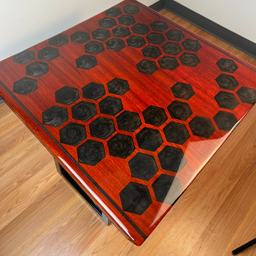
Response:
[[[68,121],[68,110],[59,106],[52,106],[43,112],[43,124],[58,127]]]

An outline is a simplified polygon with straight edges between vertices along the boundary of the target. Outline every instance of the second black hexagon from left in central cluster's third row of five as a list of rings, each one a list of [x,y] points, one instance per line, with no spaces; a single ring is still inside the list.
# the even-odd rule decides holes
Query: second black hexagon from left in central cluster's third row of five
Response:
[[[101,116],[91,122],[89,127],[92,137],[104,140],[116,131],[113,120]]]

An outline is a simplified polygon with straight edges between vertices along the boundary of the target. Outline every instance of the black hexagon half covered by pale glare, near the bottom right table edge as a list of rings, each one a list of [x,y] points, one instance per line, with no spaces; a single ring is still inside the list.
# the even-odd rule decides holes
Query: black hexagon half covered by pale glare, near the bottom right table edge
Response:
[[[183,188],[178,178],[161,174],[152,184],[158,202],[173,205],[183,193]]]

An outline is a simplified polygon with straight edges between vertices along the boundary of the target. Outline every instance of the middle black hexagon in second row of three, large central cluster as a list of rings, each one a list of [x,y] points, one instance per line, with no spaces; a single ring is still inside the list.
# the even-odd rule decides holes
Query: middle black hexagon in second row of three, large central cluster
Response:
[[[88,121],[97,114],[95,104],[87,101],[80,101],[72,108],[72,118],[81,121]]]

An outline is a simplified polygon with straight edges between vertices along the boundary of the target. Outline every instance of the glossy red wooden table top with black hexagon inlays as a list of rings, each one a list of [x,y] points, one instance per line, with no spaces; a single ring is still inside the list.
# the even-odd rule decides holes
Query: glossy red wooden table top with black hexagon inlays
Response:
[[[253,66],[135,0],[0,62],[1,97],[136,245],[255,89]]]

